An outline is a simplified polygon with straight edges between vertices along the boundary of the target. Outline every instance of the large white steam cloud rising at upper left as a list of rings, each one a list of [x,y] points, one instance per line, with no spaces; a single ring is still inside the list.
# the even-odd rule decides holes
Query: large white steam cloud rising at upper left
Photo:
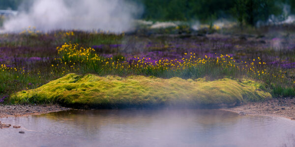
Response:
[[[28,1],[27,1],[28,2]],[[27,11],[3,24],[5,32],[55,29],[128,31],[142,13],[141,6],[125,0],[34,0]]]

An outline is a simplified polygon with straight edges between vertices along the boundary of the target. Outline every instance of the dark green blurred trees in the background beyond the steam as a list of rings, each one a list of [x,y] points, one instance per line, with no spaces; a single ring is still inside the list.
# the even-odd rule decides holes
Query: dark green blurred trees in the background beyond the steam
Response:
[[[0,9],[17,10],[28,0],[0,0]],[[284,19],[295,12],[295,0],[128,0],[144,6],[142,19],[161,21],[236,19],[239,23],[256,25],[271,15]],[[290,8],[289,8],[290,7]],[[284,11],[285,8],[285,11]],[[287,12],[286,12],[287,11]]]

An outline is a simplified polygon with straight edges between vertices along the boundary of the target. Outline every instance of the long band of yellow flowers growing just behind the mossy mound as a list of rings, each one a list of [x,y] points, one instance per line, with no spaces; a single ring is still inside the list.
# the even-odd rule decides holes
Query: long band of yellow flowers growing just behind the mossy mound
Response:
[[[56,60],[61,64],[69,66],[71,69],[79,70],[75,68],[76,63],[91,64],[93,68],[99,68],[103,70],[119,70],[119,71],[174,71],[181,72],[185,69],[194,67],[196,69],[211,68],[216,70],[224,70],[228,72],[238,71],[239,73],[247,73],[249,76],[258,79],[266,79],[269,76],[285,78],[285,74],[268,72],[266,69],[266,63],[261,61],[261,58],[251,59],[248,61],[236,62],[233,57],[226,54],[221,54],[217,58],[211,58],[205,55],[204,58],[198,58],[196,53],[184,53],[182,59],[158,59],[151,60],[145,57],[136,57],[128,60],[120,60],[105,58],[95,53],[95,49],[79,47],[78,44],[65,43],[61,47],[58,47],[58,52],[61,58]],[[123,57],[122,57],[123,59]],[[59,64],[57,64],[58,66]],[[52,65],[53,66],[53,65]]]

